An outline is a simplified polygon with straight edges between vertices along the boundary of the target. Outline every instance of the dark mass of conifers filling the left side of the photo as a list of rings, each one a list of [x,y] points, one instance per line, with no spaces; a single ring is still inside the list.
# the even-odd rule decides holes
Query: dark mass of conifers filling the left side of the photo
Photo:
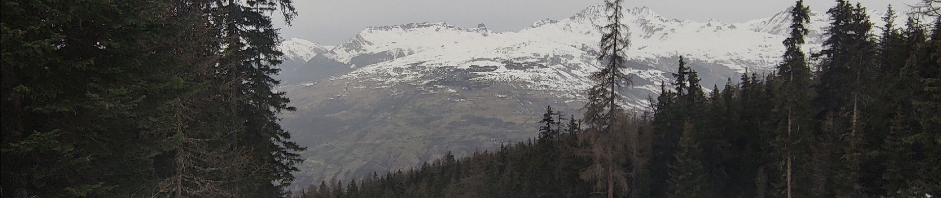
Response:
[[[285,197],[290,0],[2,0],[0,197]]]

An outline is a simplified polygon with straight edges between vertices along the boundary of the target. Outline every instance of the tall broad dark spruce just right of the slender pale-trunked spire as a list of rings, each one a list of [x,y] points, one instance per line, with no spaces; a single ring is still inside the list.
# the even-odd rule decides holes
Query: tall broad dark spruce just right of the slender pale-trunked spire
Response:
[[[875,44],[870,39],[871,23],[866,8],[837,1],[827,11],[831,15],[829,36],[821,57],[820,84],[814,100],[820,120],[816,136],[817,164],[813,195],[858,197],[862,193],[861,170],[867,151],[865,140],[867,105],[875,85],[869,79],[875,68]]]

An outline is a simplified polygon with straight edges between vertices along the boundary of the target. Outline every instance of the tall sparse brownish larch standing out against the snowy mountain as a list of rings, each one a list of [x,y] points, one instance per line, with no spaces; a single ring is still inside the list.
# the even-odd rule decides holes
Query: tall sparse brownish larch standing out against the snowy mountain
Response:
[[[594,183],[596,190],[614,198],[615,190],[627,191],[627,173],[621,167],[627,160],[625,143],[628,140],[628,114],[621,106],[624,103],[618,91],[630,85],[630,78],[624,73],[627,62],[624,51],[630,46],[628,26],[621,23],[621,0],[605,1],[605,11],[609,23],[600,26],[601,41],[598,62],[602,68],[591,75],[597,84],[587,90],[588,101],[585,103],[584,122],[587,129],[580,133],[579,139],[586,144],[586,153],[592,165],[582,171],[582,178]]]

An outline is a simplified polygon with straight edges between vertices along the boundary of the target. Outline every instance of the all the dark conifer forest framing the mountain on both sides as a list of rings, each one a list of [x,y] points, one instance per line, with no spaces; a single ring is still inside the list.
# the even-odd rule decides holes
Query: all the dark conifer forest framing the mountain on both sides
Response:
[[[305,148],[271,77],[291,0],[2,0],[0,197],[941,196],[937,1],[885,26],[836,2],[821,52],[797,1],[773,72],[708,87],[680,56],[630,110],[609,0],[584,114],[547,106],[533,140],[291,191]]]

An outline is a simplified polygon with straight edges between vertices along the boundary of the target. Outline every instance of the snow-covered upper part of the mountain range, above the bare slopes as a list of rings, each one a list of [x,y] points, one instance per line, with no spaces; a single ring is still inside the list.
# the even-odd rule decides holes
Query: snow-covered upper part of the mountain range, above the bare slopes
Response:
[[[647,82],[637,84],[639,88],[668,79],[672,67],[665,66],[674,63],[662,61],[678,55],[708,66],[704,69],[714,72],[713,77],[723,79],[746,68],[773,69],[780,61],[781,41],[790,24],[789,8],[744,23],[667,19],[646,7],[625,8],[624,13],[631,40],[627,54],[638,64],[631,69]],[[811,16],[807,52],[821,48],[828,20],[820,12]],[[881,12],[870,11],[874,25],[882,25],[880,16]],[[603,23],[604,7],[595,5],[568,18],[539,21],[511,32],[491,31],[483,24],[476,28],[448,23],[375,26],[327,52],[296,54],[324,55],[347,64],[354,70],[337,79],[354,82],[496,82],[567,92],[588,86],[587,74],[598,69],[594,58],[600,36],[597,26]]]

